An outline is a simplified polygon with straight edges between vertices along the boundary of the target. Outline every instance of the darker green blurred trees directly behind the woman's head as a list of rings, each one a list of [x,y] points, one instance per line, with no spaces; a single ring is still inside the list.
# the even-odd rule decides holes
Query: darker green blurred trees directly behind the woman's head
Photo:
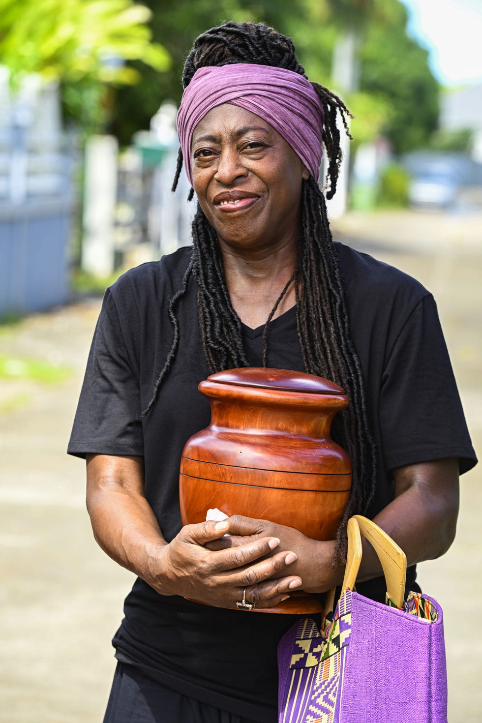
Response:
[[[135,87],[116,90],[111,129],[130,142],[166,98],[181,99],[181,73],[194,38],[223,20],[264,20],[294,38],[301,64],[311,79],[332,87],[332,56],[347,27],[361,38],[358,93],[345,98],[356,115],[356,144],[387,134],[395,152],[425,144],[436,128],[439,87],[426,51],[407,35],[407,11],[400,0],[147,0],[152,34],[168,48],[171,71],[162,75],[134,63],[142,72]]]

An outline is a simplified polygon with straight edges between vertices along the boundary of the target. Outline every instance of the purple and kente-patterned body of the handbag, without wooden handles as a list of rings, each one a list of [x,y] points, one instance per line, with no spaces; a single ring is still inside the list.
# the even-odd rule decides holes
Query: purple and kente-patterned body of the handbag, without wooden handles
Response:
[[[443,615],[426,595],[400,610],[346,590],[321,633],[311,618],[288,630],[278,668],[278,723],[447,723]]]

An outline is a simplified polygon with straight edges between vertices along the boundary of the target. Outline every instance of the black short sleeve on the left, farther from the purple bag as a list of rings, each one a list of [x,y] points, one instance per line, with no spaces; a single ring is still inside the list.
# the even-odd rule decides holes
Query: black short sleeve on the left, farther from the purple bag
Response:
[[[134,319],[130,326],[135,328]],[[125,323],[124,323],[125,327]],[[95,328],[67,452],[143,455],[134,338],[122,333],[109,290]]]

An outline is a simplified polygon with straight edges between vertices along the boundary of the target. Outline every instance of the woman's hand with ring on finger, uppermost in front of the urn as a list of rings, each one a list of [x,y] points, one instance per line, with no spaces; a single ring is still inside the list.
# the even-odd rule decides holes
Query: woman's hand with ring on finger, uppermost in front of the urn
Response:
[[[280,544],[276,537],[215,552],[207,549],[205,544],[220,539],[226,527],[225,522],[212,521],[186,525],[172,542],[152,546],[147,583],[163,595],[230,608],[236,608],[244,595],[256,607],[273,607],[301,588],[301,578],[289,574],[296,555],[273,552]],[[283,570],[285,576],[268,579]]]

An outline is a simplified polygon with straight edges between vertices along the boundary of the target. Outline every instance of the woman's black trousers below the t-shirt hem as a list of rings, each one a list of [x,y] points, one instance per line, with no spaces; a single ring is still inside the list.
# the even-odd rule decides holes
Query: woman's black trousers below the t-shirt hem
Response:
[[[104,723],[255,723],[187,698],[118,662]]]

